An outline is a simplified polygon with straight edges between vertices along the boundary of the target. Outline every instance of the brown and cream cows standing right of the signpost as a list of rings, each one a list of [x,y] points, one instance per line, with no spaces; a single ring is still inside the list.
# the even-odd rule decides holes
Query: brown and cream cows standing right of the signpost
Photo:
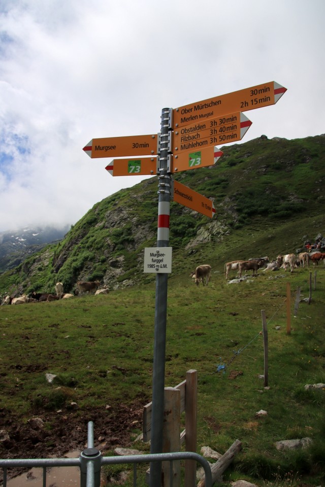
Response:
[[[287,270],[290,268],[290,272],[294,272],[294,269],[301,266],[308,266],[310,262],[313,265],[318,265],[318,262],[322,260],[325,265],[325,253],[313,252],[311,254],[307,252],[301,252],[298,256],[296,254],[278,255],[275,260],[270,262],[268,257],[255,257],[249,260],[233,260],[232,262],[226,262],[224,264],[225,279],[229,279],[229,273],[231,270],[238,271],[238,276],[242,277],[243,271],[252,270],[252,275],[257,275],[257,270],[264,268],[264,270],[278,270],[281,267]],[[196,270],[190,273],[190,277],[199,286],[202,282],[203,286],[208,285],[211,276],[211,266],[209,264],[199,265]]]

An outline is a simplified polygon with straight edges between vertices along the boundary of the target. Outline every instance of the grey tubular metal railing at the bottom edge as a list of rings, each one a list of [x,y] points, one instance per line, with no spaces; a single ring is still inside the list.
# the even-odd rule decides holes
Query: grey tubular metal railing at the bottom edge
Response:
[[[93,423],[88,423],[88,447],[79,458],[49,458],[49,459],[0,459],[0,468],[4,472],[3,487],[7,487],[7,472],[13,467],[34,467],[43,469],[43,487],[46,487],[46,470],[49,467],[79,467],[80,487],[100,487],[101,468],[103,465],[134,464],[133,485],[137,485],[137,464],[152,462],[170,462],[170,486],[173,485],[173,462],[177,460],[194,460],[200,463],[205,473],[206,487],[212,486],[211,469],[208,461],[191,451],[176,453],[160,453],[148,455],[128,455],[123,457],[103,457],[101,452],[93,447]],[[158,486],[157,486],[158,487]]]

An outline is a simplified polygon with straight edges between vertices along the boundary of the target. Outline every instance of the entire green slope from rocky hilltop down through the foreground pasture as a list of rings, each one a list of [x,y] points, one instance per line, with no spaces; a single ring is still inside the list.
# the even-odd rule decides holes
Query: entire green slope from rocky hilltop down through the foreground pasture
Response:
[[[325,234],[324,142],[323,136],[261,138],[224,148],[216,167],[177,176],[214,198],[216,217],[171,204],[165,385],[175,386],[187,370],[198,370],[198,453],[203,445],[224,453],[237,438],[243,444],[226,481],[307,487],[325,480],[324,391],[305,390],[306,384],[325,383],[325,267],[298,268],[293,274],[260,271],[237,284],[226,283],[223,275],[226,261],[272,259]],[[141,432],[142,407],[151,400],[155,314],[155,276],[142,272],[143,250],[156,239],[156,192],[153,178],[104,199],[58,245],[0,275],[3,294],[54,291],[57,280],[69,292],[80,278],[101,279],[111,289],[105,296],[1,307],[0,429],[12,437],[19,436],[16,425],[34,434],[28,420],[40,417],[46,447],[69,448],[67,424],[85,431],[87,419],[98,425],[96,437],[105,437],[111,454],[118,433],[131,444]],[[189,277],[200,263],[212,266],[208,287],[196,287]],[[311,276],[311,303],[302,300],[294,317],[297,290],[308,298]],[[270,389],[259,377],[264,372],[262,310]],[[217,370],[220,364],[224,373]],[[57,376],[52,384],[46,373]],[[121,409],[129,421],[120,421]],[[267,415],[258,418],[261,409]],[[135,411],[140,411],[136,420]],[[119,425],[118,433],[113,425]],[[275,447],[276,441],[304,437],[312,439],[306,450]],[[22,435],[11,448],[17,443],[26,454],[43,444],[30,446]],[[11,454],[2,448],[0,456]]]

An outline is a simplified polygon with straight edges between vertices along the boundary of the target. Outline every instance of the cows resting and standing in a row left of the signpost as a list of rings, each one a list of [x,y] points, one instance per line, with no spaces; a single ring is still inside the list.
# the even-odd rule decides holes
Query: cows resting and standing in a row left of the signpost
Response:
[[[76,283],[76,295],[81,295],[83,293],[95,295],[98,294],[108,294],[109,290],[104,287],[103,289],[98,289],[101,283],[99,281],[78,281]],[[55,294],[51,293],[37,293],[32,292],[29,296],[23,294],[18,297],[5,296],[1,304],[25,304],[25,303],[37,303],[37,302],[50,302],[58,301],[59,299],[68,299],[74,297],[74,294],[63,293],[63,284],[56,283]]]

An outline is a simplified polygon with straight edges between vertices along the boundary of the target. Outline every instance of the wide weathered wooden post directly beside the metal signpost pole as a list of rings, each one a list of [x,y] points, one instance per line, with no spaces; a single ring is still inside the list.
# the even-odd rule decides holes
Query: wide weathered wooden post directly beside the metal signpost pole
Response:
[[[165,387],[163,453],[171,453],[181,449],[180,414],[180,390],[174,387]],[[180,461],[163,462],[163,487],[179,487],[180,482]]]

